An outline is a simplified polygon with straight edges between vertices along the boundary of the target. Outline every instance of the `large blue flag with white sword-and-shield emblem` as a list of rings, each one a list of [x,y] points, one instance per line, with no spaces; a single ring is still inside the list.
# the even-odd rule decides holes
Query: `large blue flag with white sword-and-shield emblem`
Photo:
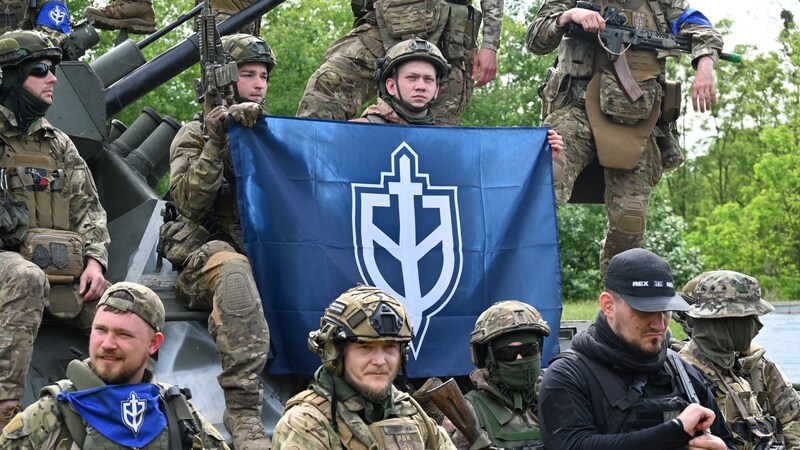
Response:
[[[411,377],[464,375],[499,300],[534,305],[558,352],[561,274],[544,128],[262,117],[231,125],[245,246],[272,336],[270,373],[311,374],[323,310],[356,283],[412,318]]]

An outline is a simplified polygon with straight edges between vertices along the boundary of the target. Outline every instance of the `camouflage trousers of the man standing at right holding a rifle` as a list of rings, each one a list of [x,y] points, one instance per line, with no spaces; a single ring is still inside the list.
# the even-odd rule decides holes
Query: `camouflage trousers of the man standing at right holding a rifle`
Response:
[[[597,158],[594,135],[586,112],[578,106],[553,111],[545,120],[564,139],[564,150],[553,161],[556,206],[569,200],[578,174]],[[647,224],[647,207],[661,178],[661,152],[654,136],[645,144],[639,162],[631,170],[605,169],[606,237],[600,243],[600,271],[617,253],[641,247]]]

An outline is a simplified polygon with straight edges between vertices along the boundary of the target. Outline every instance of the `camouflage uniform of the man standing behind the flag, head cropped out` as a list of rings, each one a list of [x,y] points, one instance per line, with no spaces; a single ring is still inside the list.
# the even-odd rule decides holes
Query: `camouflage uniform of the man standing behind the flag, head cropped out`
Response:
[[[308,80],[297,108],[298,117],[348,120],[356,115],[364,102],[376,97],[372,78],[376,61],[385,50],[401,39],[386,42],[382,37],[373,0],[351,1],[356,13],[355,28],[328,47],[325,62]],[[436,43],[453,66],[452,73],[442,86],[439,101],[434,105],[437,124],[457,124],[472,98],[472,67],[477,52],[477,29],[473,30],[474,22],[458,20],[458,14],[450,14],[448,10],[454,8],[456,11],[469,3],[470,0],[453,0],[452,3],[440,0],[440,23],[433,28],[437,31],[443,29],[441,38],[434,36],[436,31],[430,33],[431,36],[416,33]],[[481,0],[480,4],[483,14],[483,41],[480,48],[497,51],[503,24],[503,0]],[[477,12],[475,16],[478,16]],[[445,24],[448,17],[451,19]],[[425,17],[419,19],[420,22],[425,20]],[[477,28],[477,24],[474,26]]]

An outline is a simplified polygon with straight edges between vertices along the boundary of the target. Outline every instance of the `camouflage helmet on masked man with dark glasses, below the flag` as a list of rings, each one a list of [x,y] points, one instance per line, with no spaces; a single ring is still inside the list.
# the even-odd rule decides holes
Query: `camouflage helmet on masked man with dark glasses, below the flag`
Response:
[[[516,331],[550,336],[550,327],[533,306],[519,300],[504,300],[490,306],[478,316],[469,338],[472,363],[483,367],[489,342]]]

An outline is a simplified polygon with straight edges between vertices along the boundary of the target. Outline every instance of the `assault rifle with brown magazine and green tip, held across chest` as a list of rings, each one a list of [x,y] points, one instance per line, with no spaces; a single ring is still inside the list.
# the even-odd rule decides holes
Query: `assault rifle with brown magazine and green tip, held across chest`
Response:
[[[601,12],[600,5],[590,2],[579,1],[577,7],[598,13]],[[576,23],[570,23],[567,27],[566,36],[592,40],[599,39],[608,53],[608,60],[614,64],[614,70],[617,73],[620,84],[622,84],[622,88],[633,102],[639,100],[644,94],[628,67],[625,52],[629,48],[652,51],[678,50],[685,53],[691,53],[692,51],[691,37],[629,27],[625,25],[628,19],[616,8],[607,7],[603,13],[603,18],[606,21],[604,31],[592,33],[584,30],[583,27]],[[720,53],[719,58],[733,63],[742,61],[742,55],[736,53]]]

